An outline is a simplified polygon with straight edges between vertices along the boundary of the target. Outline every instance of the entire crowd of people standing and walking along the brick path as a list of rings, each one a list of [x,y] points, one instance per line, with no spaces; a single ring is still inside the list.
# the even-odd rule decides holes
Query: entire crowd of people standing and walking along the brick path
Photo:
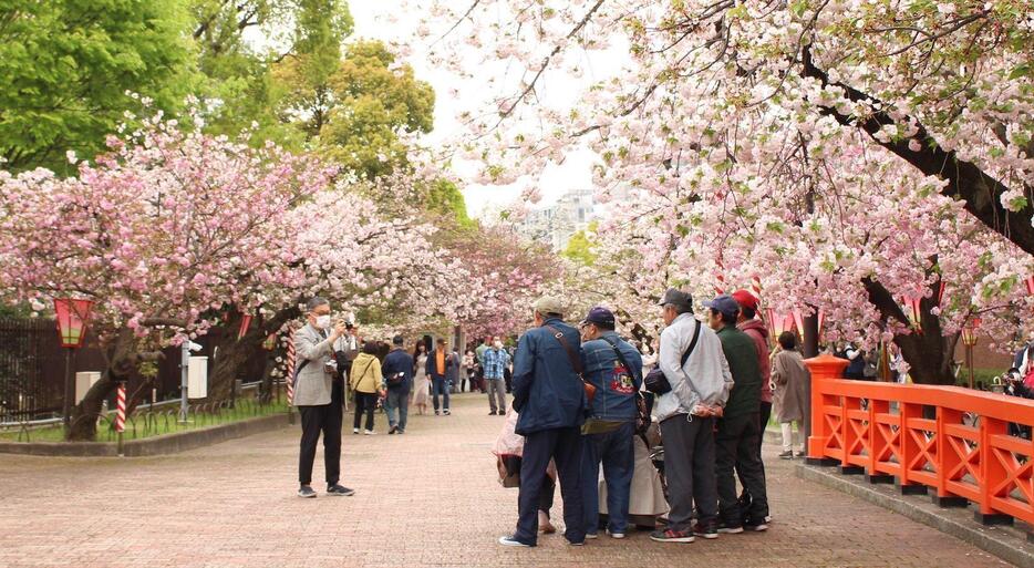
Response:
[[[389,434],[404,434],[411,403],[430,414],[430,402],[435,415],[447,416],[451,392],[469,385],[487,395],[490,415],[508,417],[496,453],[500,475],[519,486],[518,519],[502,545],[536,546],[540,533],[556,531],[549,517],[556,485],[563,535],[576,546],[601,530],[623,538],[634,526],[653,529],[650,537],[664,543],[764,531],[771,516],[762,434],[775,406],[780,457],[802,455],[793,425],[803,419],[808,371],[793,333],[783,333],[769,355],[768,331],[748,292],[703,306],[705,321],[693,316],[690,295],[668,290],[660,302],[660,348],[645,360],[617,333],[610,310],[592,308],[570,324],[562,303],[548,297],[531,307],[535,326],[516,349],[494,337],[462,355],[445,340],[431,351],[416,341],[411,352],[396,335],[379,357],[378,342],[363,342],[354,326],[331,321],[329,302],[313,298],[294,339],[294,405],[302,425],[298,495],[316,496],[320,435],[327,494],[354,494],[339,484],[345,392],[354,394],[354,434],[374,434],[379,405]],[[650,436],[663,444],[666,490]]]

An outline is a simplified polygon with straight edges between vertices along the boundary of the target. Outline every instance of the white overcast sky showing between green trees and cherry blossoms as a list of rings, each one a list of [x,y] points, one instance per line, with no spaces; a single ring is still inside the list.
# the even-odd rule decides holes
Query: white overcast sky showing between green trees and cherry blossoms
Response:
[[[362,38],[375,38],[385,42],[396,41],[407,43],[405,37],[411,30],[415,29],[418,17],[402,14],[400,0],[352,0],[349,8],[355,19],[355,35]],[[386,16],[394,14],[399,21],[389,22]],[[463,134],[463,126],[455,120],[459,110],[465,106],[477,105],[475,97],[465,99],[463,94],[459,99],[452,99],[451,87],[457,84],[457,78],[451,73],[438,69],[433,69],[427,64],[424,54],[421,53],[417,45],[413,45],[413,55],[410,60],[416,76],[430,82],[435,90],[435,132],[431,135],[432,142],[454,138]],[[477,92],[475,85],[468,85],[461,93]],[[540,205],[547,205],[557,199],[569,189],[582,189],[591,187],[591,164],[592,156],[583,153],[569,157],[563,165],[552,166],[544,172],[541,177]],[[474,166],[471,164],[457,164],[455,171],[463,175],[469,173]],[[486,207],[502,208],[516,199],[520,189],[517,187],[497,187],[497,186],[477,186],[467,185],[464,188],[464,198],[467,203],[467,211],[471,216],[479,216]]]

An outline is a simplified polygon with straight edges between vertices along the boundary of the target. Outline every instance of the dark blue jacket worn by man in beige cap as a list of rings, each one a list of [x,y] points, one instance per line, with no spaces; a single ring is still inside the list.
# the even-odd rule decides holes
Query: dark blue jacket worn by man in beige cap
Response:
[[[563,334],[585,369],[578,330],[556,318],[546,320],[546,324]],[[519,413],[517,434],[575,427],[586,421],[585,386],[563,345],[545,327],[529,329],[517,343],[513,386],[514,409]]]

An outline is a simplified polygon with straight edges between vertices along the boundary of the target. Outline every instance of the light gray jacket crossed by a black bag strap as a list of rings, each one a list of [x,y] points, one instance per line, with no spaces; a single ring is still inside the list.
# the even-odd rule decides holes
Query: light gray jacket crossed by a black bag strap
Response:
[[[658,364],[671,383],[671,392],[658,399],[654,409],[658,420],[689,414],[700,403],[725,406],[728,400],[733,375],[728,371],[725,352],[722,351],[722,341],[706,323],[700,326],[696,348],[685,366],[682,365],[682,354],[693,341],[695,327],[696,319],[690,313],[682,313],[661,332]]]

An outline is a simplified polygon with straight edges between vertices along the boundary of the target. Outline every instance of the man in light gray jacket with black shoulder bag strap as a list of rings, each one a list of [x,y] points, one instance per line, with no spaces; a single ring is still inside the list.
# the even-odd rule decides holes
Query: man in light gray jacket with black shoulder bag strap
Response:
[[[671,390],[654,413],[664,442],[664,476],[671,510],[668,528],[650,538],[692,543],[717,538],[718,497],[714,473],[714,423],[732,388],[732,374],[717,334],[693,317],[693,298],[674,288],[661,299],[664,331],[658,369]],[[655,371],[656,372],[656,371]],[[691,525],[696,505],[697,524]]]

